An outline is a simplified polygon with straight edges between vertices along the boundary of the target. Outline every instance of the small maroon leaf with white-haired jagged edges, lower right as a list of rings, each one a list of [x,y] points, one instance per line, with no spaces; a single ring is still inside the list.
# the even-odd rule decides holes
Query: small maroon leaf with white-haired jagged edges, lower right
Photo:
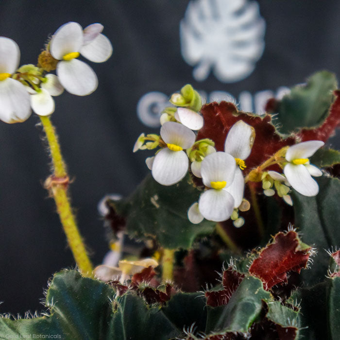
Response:
[[[311,247],[301,243],[295,231],[278,233],[249,268],[249,272],[260,278],[265,289],[287,283],[287,272],[300,272],[306,268]]]

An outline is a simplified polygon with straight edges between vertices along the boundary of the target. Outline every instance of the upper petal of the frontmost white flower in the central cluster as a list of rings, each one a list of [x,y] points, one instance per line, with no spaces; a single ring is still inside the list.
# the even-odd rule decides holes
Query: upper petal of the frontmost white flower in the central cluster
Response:
[[[202,161],[201,175],[206,187],[210,182],[227,182],[226,187],[232,184],[236,170],[236,162],[229,153],[217,152],[207,155]]]

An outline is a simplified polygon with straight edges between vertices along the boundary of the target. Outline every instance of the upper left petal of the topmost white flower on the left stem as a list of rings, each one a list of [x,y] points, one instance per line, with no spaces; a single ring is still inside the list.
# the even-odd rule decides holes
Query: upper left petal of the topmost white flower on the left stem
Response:
[[[63,59],[65,54],[79,52],[83,45],[83,28],[78,22],[68,22],[60,26],[52,36],[50,52],[52,57]]]

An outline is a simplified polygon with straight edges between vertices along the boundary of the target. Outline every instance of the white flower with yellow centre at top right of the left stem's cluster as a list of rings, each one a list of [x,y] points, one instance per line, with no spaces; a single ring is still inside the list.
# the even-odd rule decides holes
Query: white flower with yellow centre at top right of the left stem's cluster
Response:
[[[68,22],[52,36],[50,52],[53,58],[60,60],[56,72],[69,93],[86,96],[97,88],[96,73],[76,58],[82,54],[90,61],[101,63],[111,56],[111,43],[99,33],[101,27],[90,25],[83,33],[82,26],[77,22]]]

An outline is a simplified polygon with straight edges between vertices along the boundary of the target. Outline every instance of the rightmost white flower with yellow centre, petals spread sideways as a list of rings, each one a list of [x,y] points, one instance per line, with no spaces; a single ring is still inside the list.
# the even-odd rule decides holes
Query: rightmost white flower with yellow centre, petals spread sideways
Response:
[[[312,156],[324,145],[321,140],[310,140],[295,144],[287,150],[286,159],[289,163],[283,168],[283,172],[289,184],[304,196],[316,196],[319,186],[311,176],[321,176],[322,171],[309,164],[308,157]]]

